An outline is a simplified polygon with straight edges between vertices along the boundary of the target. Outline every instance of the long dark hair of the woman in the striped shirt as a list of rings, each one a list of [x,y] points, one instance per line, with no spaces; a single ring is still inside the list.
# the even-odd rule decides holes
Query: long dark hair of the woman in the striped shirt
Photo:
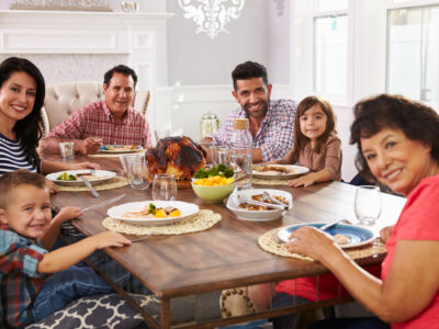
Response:
[[[33,167],[37,167],[40,157],[36,152],[36,147],[38,146],[40,138],[43,136],[43,118],[41,116],[41,109],[44,104],[46,87],[43,75],[32,61],[25,58],[9,57],[0,64],[0,88],[3,87],[4,81],[7,81],[14,72],[26,72],[36,82],[34,107],[26,117],[15,123],[13,131],[16,134],[18,140],[20,140],[24,146],[26,160]]]

